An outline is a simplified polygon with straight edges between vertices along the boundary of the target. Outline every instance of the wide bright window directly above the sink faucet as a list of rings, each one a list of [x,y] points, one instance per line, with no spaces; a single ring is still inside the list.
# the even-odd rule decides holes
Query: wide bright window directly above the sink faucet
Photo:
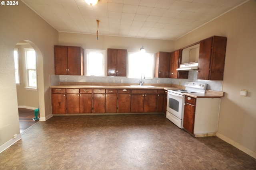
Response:
[[[153,78],[154,54],[128,53],[128,78]]]

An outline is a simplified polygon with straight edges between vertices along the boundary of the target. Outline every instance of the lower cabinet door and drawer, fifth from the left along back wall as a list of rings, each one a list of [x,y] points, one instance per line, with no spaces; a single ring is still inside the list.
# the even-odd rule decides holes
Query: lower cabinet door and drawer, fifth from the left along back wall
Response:
[[[106,113],[117,112],[117,89],[106,89]]]

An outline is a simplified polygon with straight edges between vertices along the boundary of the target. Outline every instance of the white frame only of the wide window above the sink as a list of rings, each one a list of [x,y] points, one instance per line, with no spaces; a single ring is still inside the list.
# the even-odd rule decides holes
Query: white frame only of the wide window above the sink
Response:
[[[132,77],[131,73],[130,73],[130,55],[150,55],[150,57],[152,57],[152,68],[151,68],[151,73],[150,73],[150,77],[145,77],[144,75],[140,75],[141,77]],[[135,66],[132,66],[132,68],[137,68]],[[133,52],[128,52],[128,57],[127,57],[127,78],[144,78],[145,79],[153,79],[154,78],[154,68],[155,68],[155,54],[154,53],[142,53],[142,52],[138,52],[138,53],[133,53]]]

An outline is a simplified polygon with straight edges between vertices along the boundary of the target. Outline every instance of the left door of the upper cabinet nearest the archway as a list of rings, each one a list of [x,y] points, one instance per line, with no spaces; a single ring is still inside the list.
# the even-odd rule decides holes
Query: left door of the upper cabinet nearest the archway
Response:
[[[56,75],[68,75],[68,47],[54,45],[54,71]]]

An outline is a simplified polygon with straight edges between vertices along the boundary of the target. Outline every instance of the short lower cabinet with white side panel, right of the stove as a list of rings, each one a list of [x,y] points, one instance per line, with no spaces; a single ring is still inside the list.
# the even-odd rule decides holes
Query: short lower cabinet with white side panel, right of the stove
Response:
[[[183,127],[195,137],[215,136],[220,98],[185,96]]]

